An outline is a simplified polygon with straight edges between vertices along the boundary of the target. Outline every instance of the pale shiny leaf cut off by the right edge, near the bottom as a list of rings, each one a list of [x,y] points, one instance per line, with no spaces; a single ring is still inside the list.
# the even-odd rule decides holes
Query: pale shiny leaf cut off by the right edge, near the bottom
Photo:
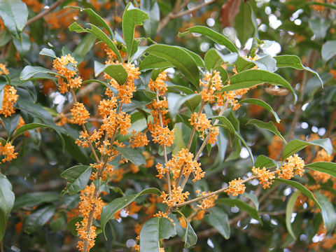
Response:
[[[315,192],[316,199],[321,205],[321,214],[323,223],[327,230],[327,234],[335,230],[336,225],[336,212],[332,203],[322,193]]]

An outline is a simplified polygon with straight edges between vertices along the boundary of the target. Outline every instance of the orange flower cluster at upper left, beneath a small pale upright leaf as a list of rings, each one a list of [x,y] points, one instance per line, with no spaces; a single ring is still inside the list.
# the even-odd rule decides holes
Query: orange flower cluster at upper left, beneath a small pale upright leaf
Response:
[[[62,76],[56,76],[59,83],[59,92],[61,94],[68,92],[68,88],[78,88],[82,84],[82,79],[78,76],[76,77],[77,62],[71,57],[71,55],[65,55],[62,57],[57,57],[54,59],[52,66],[57,71],[66,78],[66,81]]]

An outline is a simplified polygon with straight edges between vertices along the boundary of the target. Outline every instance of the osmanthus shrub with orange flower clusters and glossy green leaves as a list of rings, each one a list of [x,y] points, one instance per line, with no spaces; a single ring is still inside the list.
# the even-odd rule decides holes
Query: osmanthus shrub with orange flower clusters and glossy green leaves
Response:
[[[300,116],[303,87],[296,88],[297,97],[293,83],[276,71],[297,69],[304,78],[314,75],[323,86],[318,73],[295,55],[265,55],[262,45],[269,41],[258,38],[244,55],[227,36],[202,25],[191,25],[179,33],[179,39],[193,40],[196,35],[216,43],[204,53],[135,38],[141,26],[148,32],[148,24],[158,21],[153,14],[160,12],[156,1],[149,10],[128,3],[122,20],[114,18],[114,27],[94,11],[101,8],[94,6],[98,2],[92,1],[91,6],[85,1],[85,8],[71,4],[62,10],[87,16],[66,24],[71,36],[83,38],[75,50],[63,47],[57,52],[43,45],[35,56],[51,62],[44,66],[25,62],[22,71],[0,64],[1,252],[61,251],[63,244],[64,251],[75,247],[85,252],[127,251],[127,246],[141,252],[181,251],[183,244],[190,251],[206,251],[204,237],[219,233],[228,239],[219,238],[223,244],[239,237],[230,228],[236,223],[260,240],[278,230],[272,239],[286,235],[283,247],[304,234],[300,236],[304,246],[311,243],[308,236],[322,236],[328,242],[321,247],[332,248],[336,243],[335,136],[330,141],[332,134],[325,138],[310,134],[290,141],[295,117]],[[0,16],[13,43],[23,45],[26,24],[18,12],[9,11],[18,7],[15,4],[26,6],[19,0],[0,0]],[[241,1],[240,8],[251,12],[251,6]],[[29,7],[38,8],[35,12],[42,8]],[[45,20],[54,25],[52,29],[62,27],[56,27],[52,18]],[[118,22],[121,29],[116,28]],[[237,31],[239,39],[246,41]],[[92,47],[99,48],[99,54],[89,57]],[[94,78],[81,70],[84,61],[92,63]],[[41,81],[57,86],[54,93],[67,102],[62,113],[36,93],[34,85]],[[260,99],[262,94],[272,103]],[[295,108],[294,118],[281,112],[288,125],[294,122],[286,138],[283,118],[273,109],[283,94],[290,97],[290,108]],[[262,120],[253,117],[260,119],[260,113],[266,115]],[[254,134],[248,141],[246,132],[241,132],[243,126]],[[25,184],[23,176],[29,174],[22,169],[42,162],[34,155],[32,161],[25,156],[26,149],[37,152],[38,145],[43,155],[61,165],[45,174],[31,169],[32,174],[60,177],[57,181],[62,186],[65,179],[66,186],[57,193],[36,187],[36,192],[19,192],[15,197],[11,183]],[[241,160],[241,153],[249,160]],[[18,162],[22,168],[7,169],[8,162]],[[18,169],[22,176],[13,176]],[[220,174],[229,176],[221,179]],[[31,190],[29,183],[25,186]],[[270,216],[275,217],[269,221]],[[314,243],[309,249],[319,248]]]

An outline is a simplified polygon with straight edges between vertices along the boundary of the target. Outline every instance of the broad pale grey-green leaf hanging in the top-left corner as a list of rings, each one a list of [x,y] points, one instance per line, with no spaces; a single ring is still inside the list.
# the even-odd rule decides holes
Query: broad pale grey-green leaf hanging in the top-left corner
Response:
[[[28,8],[21,0],[0,0],[0,17],[15,38],[22,40],[22,30],[28,19]]]

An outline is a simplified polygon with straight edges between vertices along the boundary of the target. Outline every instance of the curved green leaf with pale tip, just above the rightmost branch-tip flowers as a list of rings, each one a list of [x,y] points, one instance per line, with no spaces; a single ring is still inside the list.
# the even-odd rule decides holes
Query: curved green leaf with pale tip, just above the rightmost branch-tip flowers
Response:
[[[282,160],[286,160],[290,155],[297,153],[297,151],[301,151],[303,148],[314,145],[320,146],[325,149],[325,151],[331,155],[332,154],[332,144],[330,139],[316,139],[313,141],[303,141],[295,139],[290,141],[286,146],[283,148]]]

